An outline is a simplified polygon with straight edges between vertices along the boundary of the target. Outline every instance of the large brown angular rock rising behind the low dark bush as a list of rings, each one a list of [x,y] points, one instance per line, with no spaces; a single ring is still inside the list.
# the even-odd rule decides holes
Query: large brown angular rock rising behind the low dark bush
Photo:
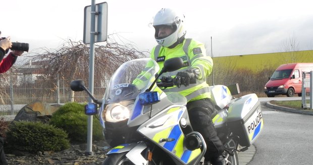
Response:
[[[35,101],[24,106],[13,121],[41,121],[48,123],[52,114],[59,109],[59,105],[51,106],[48,103]]]

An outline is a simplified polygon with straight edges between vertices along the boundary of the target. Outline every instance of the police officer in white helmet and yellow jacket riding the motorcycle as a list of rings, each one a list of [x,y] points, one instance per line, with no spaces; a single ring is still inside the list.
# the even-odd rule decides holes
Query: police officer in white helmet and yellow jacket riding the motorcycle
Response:
[[[201,133],[208,146],[205,161],[211,161],[214,165],[225,164],[222,155],[224,146],[210,117],[214,112],[214,105],[210,99],[206,76],[212,72],[212,58],[206,55],[202,43],[185,39],[184,15],[164,8],[156,13],[152,25],[158,45],[151,50],[150,58],[158,62],[160,68],[163,68],[164,61],[173,57],[181,57],[184,62],[183,68],[167,72],[165,76],[175,76],[175,80],[183,78],[186,84],[180,88],[167,88],[164,92],[179,92],[187,98],[187,109],[193,130]]]

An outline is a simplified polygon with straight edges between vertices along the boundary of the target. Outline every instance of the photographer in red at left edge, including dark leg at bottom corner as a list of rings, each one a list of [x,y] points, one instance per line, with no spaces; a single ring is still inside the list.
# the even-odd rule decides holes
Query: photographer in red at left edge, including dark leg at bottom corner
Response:
[[[8,71],[11,66],[15,63],[18,56],[21,56],[24,51],[13,50],[5,57],[9,49],[12,47],[12,42],[10,41],[11,37],[1,38],[0,31],[0,73]],[[5,57],[5,58],[4,58]],[[4,146],[4,137],[0,135],[0,164],[8,164],[5,152],[3,150]]]

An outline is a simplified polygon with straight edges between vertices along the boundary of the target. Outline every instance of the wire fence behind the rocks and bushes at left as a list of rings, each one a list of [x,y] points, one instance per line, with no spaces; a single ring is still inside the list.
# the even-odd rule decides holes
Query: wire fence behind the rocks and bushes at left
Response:
[[[87,79],[84,80],[88,82]],[[94,80],[93,94],[101,99],[105,93],[104,85],[100,79]],[[68,79],[41,79],[34,83],[25,82],[0,87],[0,116],[16,115],[25,105],[35,101],[48,104],[65,104],[68,102],[88,102],[86,92],[73,92],[70,89],[71,80]],[[86,83],[88,89],[88,83]]]

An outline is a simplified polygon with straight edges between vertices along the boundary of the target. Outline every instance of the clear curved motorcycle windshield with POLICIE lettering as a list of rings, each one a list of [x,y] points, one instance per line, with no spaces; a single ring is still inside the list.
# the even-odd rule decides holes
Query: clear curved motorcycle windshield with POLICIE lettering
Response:
[[[111,77],[104,96],[105,103],[135,99],[149,88],[159,69],[158,63],[151,58],[139,58],[123,63]]]

